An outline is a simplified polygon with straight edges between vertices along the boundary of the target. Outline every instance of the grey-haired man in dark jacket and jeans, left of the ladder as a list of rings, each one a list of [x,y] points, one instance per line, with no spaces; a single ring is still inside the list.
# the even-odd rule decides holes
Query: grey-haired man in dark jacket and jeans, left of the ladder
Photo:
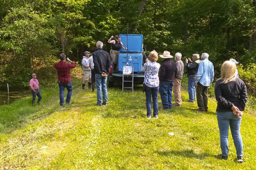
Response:
[[[103,43],[96,43],[97,50],[93,52],[93,63],[95,69],[95,81],[97,86],[97,104],[99,106],[107,105],[108,102],[108,89],[107,77],[110,66],[112,64],[108,52],[102,50]],[[102,101],[102,94],[103,101]]]

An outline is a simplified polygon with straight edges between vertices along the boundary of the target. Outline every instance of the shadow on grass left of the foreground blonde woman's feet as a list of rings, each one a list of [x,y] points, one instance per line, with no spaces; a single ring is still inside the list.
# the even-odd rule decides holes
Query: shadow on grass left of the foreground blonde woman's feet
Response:
[[[183,151],[156,151],[158,155],[165,156],[165,157],[185,157],[185,158],[197,158],[200,160],[205,159],[206,157],[214,157],[219,158],[217,155],[211,155],[209,153],[200,153],[197,154],[193,150],[183,150]]]

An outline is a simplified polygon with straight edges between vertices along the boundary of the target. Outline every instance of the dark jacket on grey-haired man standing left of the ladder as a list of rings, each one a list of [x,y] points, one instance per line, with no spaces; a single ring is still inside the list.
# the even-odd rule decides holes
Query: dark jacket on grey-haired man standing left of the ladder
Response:
[[[97,49],[92,54],[95,73],[108,73],[112,62],[110,60],[108,52],[102,49]]]

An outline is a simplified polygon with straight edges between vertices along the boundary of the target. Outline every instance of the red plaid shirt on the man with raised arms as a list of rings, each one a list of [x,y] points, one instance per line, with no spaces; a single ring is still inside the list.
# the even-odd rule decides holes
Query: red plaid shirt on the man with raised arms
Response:
[[[58,81],[63,84],[67,84],[70,82],[70,69],[76,67],[76,63],[73,61],[71,64],[66,63],[65,61],[59,61],[55,63],[54,67],[57,69],[58,72]]]

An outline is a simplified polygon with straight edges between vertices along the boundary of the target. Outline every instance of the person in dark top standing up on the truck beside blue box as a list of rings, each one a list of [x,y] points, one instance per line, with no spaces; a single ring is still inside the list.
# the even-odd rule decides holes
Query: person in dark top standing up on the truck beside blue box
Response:
[[[108,40],[108,43],[112,44],[110,50],[110,58],[113,62],[113,72],[118,72],[118,54],[121,48],[125,50],[127,50],[127,48],[124,47],[123,43],[121,42],[121,37],[118,35],[116,35],[115,37],[111,36]]]

